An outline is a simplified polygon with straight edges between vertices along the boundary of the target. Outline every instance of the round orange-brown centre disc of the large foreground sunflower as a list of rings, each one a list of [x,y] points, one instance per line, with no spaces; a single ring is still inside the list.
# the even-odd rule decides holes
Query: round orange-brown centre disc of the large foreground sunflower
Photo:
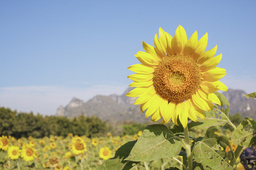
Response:
[[[201,84],[199,66],[181,54],[164,57],[153,74],[156,93],[174,103],[190,99]]]

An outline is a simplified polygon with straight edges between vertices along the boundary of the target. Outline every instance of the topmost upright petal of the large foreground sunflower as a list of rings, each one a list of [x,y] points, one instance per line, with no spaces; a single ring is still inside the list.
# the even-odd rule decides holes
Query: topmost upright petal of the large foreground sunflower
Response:
[[[172,54],[181,54],[183,53],[185,44],[187,43],[187,33],[185,29],[179,25],[175,31],[174,39],[172,39],[171,43],[171,52]]]

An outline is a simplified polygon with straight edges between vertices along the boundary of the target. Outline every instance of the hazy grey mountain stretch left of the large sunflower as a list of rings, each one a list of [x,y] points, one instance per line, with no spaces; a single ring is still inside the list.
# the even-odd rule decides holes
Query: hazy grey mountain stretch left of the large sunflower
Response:
[[[57,109],[56,116],[77,117],[81,114],[84,116],[98,116],[104,121],[133,121],[146,122],[141,112],[140,105],[134,105],[136,98],[125,96],[133,88],[127,88],[122,95],[97,95],[87,102],[74,97],[71,102]]]

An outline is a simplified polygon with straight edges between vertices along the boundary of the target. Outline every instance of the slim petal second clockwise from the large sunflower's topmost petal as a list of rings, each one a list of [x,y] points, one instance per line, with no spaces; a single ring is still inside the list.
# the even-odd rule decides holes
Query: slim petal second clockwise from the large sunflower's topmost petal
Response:
[[[208,42],[208,33],[205,33],[203,37],[198,41],[197,48],[195,53],[193,53],[192,58],[196,61],[202,54],[204,54],[205,49],[207,48]]]

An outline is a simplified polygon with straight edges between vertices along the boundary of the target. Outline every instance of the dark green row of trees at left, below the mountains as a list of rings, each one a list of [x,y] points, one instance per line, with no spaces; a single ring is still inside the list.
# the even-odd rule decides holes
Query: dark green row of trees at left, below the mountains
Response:
[[[17,113],[9,108],[0,108],[0,135],[11,135],[15,138],[42,138],[49,135],[67,136],[86,135],[98,137],[106,132],[106,122],[100,118],[79,116],[67,117],[45,116],[31,113]]]

